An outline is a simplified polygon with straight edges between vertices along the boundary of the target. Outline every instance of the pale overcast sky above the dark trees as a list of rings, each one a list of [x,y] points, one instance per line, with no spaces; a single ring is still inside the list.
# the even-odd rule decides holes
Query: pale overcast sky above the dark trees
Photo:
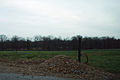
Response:
[[[0,34],[120,38],[120,0],[0,0]]]

